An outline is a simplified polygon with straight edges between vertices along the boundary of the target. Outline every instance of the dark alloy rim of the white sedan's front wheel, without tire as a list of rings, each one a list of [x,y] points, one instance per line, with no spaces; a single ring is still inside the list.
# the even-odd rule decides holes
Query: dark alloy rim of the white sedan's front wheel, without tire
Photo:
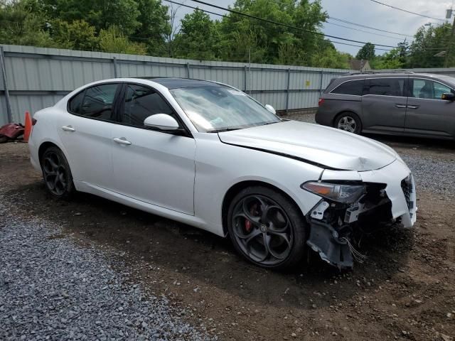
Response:
[[[253,261],[273,266],[291,252],[293,229],[286,212],[263,195],[248,195],[235,205],[232,232],[240,249]]]

